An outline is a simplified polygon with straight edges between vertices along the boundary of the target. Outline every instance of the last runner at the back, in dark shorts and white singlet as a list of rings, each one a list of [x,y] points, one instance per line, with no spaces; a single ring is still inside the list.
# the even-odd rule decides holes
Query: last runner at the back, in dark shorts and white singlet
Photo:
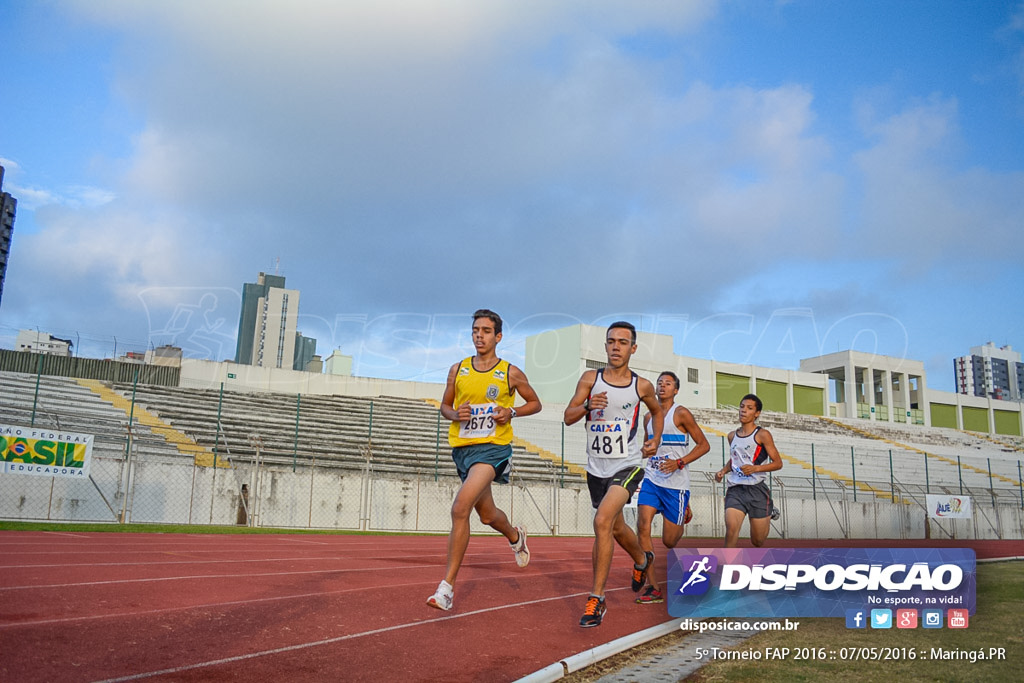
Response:
[[[725,547],[735,548],[743,518],[751,518],[751,544],[764,545],[771,529],[774,506],[765,483],[765,474],[782,469],[775,440],[767,429],[757,426],[761,399],[753,393],[739,401],[739,427],[729,432],[729,463],[715,473],[715,481],[728,474],[725,494]]]

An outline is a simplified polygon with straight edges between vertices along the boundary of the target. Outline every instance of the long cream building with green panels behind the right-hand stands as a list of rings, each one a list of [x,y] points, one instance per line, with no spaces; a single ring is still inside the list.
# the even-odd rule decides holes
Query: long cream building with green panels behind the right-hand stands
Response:
[[[605,329],[573,325],[526,338],[525,372],[546,403],[567,403],[584,371],[605,364]],[[670,335],[637,333],[630,360],[652,382],[679,377],[677,400],[691,409],[733,408],[756,393],[766,411],[1021,435],[1024,405],[930,389],[925,364],[860,351],[800,360],[799,370],[677,355]]]

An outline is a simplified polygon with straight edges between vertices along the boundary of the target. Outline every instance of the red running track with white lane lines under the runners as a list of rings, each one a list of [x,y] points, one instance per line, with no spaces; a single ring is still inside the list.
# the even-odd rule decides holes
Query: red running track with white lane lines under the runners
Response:
[[[690,540],[688,545],[716,542]],[[455,610],[427,607],[443,537],[0,532],[0,681],[509,681],[669,618],[615,550],[602,626],[578,626],[592,539],[474,538]],[[1024,542],[811,541],[975,548]],[[664,571],[664,563],[658,562]]]

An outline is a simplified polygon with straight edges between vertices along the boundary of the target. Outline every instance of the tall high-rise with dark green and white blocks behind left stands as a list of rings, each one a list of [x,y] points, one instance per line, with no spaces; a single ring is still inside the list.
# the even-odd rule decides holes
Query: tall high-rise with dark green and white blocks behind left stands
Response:
[[[298,317],[299,291],[286,289],[283,275],[261,272],[244,284],[234,362],[292,369]]]

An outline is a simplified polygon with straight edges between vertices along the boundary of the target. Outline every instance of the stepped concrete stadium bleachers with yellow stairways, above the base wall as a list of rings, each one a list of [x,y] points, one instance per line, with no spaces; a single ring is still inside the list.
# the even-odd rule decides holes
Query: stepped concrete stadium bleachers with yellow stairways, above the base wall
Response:
[[[436,401],[112,385],[50,376],[38,378],[37,389],[35,375],[15,373],[0,373],[0,422],[28,425],[35,412],[37,426],[94,434],[94,454],[110,459],[124,460],[131,425],[132,453],[142,462],[291,469],[297,463],[374,476],[455,477],[447,425]],[[562,425],[563,409],[545,405],[541,415],[516,422],[514,481],[586,493],[586,433],[581,425]],[[711,442],[711,452],[690,468],[694,489],[707,497],[721,487],[713,475],[728,457],[725,436],[735,428],[736,414],[708,409],[693,414]],[[1020,438],[772,412],[763,413],[759,423],[772,431],[784,460],[771,477],[784,494],[781,504],[824,496],[830,502],[923,508],[927,493],[966,494],[993,506],[1020,502]],[[244,481],[236,483],[240,489]],[[581,505],[586,510],[589,501]],[[699,505],[711,523],[717,504],[708,499]]]

